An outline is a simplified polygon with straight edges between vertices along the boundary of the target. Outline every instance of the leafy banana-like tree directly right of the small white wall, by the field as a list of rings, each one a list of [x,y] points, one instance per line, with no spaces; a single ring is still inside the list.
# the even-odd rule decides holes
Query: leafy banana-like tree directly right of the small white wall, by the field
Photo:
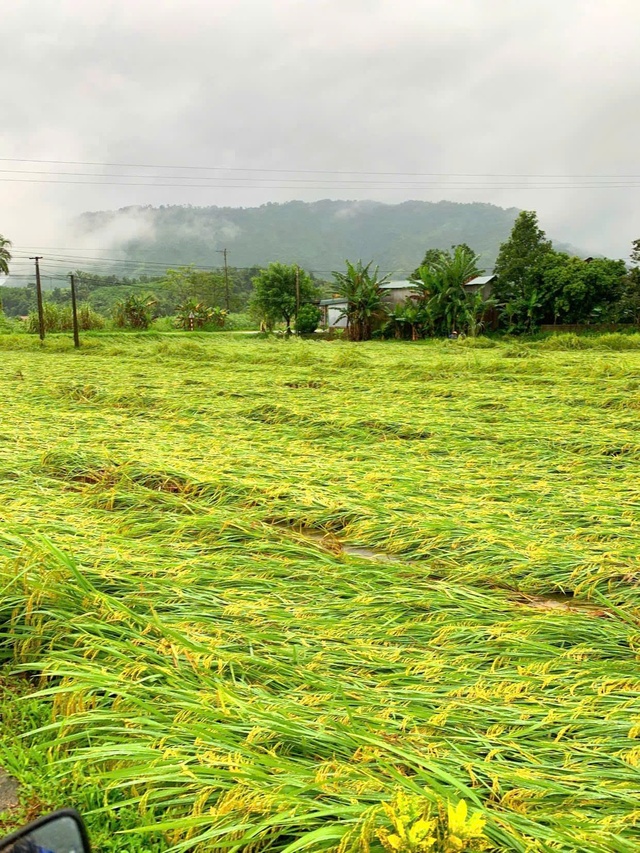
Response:
[[[347,301],[342,316],[347,318],[347,335],[352,341],[368,341],[376,321],[385,315],[382,285],[388,276],[380,278],[378,267],[371,271],[373,261],[346,261],[346,272],[334,272],[335,288]]]

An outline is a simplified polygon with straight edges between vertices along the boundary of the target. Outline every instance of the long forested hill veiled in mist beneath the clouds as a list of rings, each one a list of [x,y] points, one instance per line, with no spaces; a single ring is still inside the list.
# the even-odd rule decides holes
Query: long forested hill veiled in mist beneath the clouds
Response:
[[[296,262],[328,277],[346,258],[361,258],[402,277],[426,249],[460,242],[490,270],[517,214],[516,208],[450,201],[291,201],[252,208],[127,207],[84,213],[76,227],[91,245],[109,245],[138,262],[136,274],[152,264],[219,266],[219,250],[226,247],[235,267]]]

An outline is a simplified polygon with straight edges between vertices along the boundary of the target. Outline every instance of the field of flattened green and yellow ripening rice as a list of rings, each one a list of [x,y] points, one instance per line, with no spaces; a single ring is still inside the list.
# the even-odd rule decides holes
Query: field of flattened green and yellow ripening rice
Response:
[[[636,850],[640,351],[574,338],[0,338],[0,763],[113,849]]]

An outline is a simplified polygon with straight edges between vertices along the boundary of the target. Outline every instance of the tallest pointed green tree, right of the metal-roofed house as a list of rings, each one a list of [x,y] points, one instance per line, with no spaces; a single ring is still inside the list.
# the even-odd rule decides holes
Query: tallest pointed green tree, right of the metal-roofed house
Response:
[[[534,291],[540,290],[542,262],[552,251],[551,241],[538,225],[536,213],[523,210],[511,236],[500,246],[494,268],[498,277],[494,286],[496,299],[513,305],[529,304]]]

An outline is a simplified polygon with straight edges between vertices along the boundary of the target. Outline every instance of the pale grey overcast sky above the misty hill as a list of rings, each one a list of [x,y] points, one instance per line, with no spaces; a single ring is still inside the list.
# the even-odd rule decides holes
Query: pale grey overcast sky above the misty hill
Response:
[[[640,237],[637,0],[14,0],[0,33],[20,251],[75,245],[84,210],[293,198],[535,209],[618,257]],[[123,185],[158,174],[179,186]]]

